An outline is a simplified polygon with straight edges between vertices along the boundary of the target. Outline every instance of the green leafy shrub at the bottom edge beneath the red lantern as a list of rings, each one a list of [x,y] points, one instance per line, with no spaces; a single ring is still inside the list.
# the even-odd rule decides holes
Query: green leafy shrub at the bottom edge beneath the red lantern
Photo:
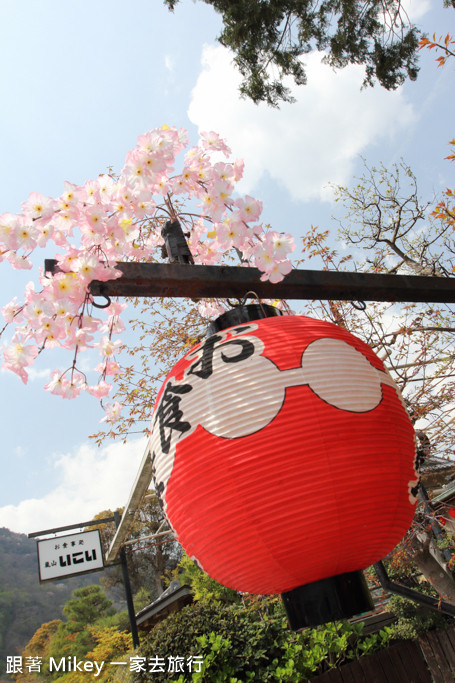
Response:
[[[300,683],[388,641],[386,631],[363,637],[362,630],[362,624],[335,622],[293,633],[275,597],[248,596],[240,604],[201,600],[142,637],[138,654],[166,662],[168,657],[202,657],[200,672],[163,672],[162,683]],[[155,673],[135,673],[137,683],[154,680]]]

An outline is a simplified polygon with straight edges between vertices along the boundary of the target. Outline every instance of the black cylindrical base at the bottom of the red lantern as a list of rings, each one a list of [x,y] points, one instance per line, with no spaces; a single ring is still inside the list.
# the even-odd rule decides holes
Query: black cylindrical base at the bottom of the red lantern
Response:
[[[299,631],[369,612],[373,603],[363,572],[338,574],[282,593],[289,626]]]

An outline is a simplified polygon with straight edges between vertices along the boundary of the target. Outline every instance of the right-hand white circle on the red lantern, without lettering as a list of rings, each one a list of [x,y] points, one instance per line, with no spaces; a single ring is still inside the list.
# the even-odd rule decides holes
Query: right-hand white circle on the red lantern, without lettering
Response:
[[[320,399],[341,410],[364,413],[382,400],[385,373],[353,346],[339,339],[317,339],[302,355],[302,384]]]

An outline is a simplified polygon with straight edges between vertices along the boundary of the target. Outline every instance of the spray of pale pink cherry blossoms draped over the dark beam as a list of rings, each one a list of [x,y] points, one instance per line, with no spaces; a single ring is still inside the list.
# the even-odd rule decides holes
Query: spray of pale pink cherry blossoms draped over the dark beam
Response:
[[[189,233],[196,263],[216,264],[233,254],[272,282],[290,271],[292,238],[264,230],[258,223],[262,203],[235,195],[243,161],[229,161],[229,147],[213,131],[201,133],[198,145],[188,144],[184,129],[154,129],[138,137],[118,177],[103,174],[80,186],[65,181],[55,199],[32,192],[21,214],[0,216],[0,261],[31,269],[37,249],[53,242],[60,251],[52,277],[39,269],[40,291],[27,285],[23,304],[15,298],[2,309],[6,325],[15,330],[4,350],[3,367],[26,382],[26,368],[38,349],[70,349],[75,351],[70,368],[63,374],[55,370],[45,388],[64,398],[81,391],[100,399],[107,396],[111,385],[105,378],[122,371],[114,360],[122,342],[114,337],[125,329],[126,304],[112,302],[94,318],[90,283],[121,277],[117,261],[160,260],[161,228],[169,218],[177,216]],[[182,164],[179,155],[184,150]],[[219,161],[220,153],[224,161]],[[182,208],[183,196],[189,199],[188,209]],[[223,310],[203,301],[198,307],[206,317]],[[88,348],[97,348],[103,356],[94,368],[100,373],[98,383],[76,370],[78,354]],[[106,421],[119,419],[118,404],[107,404],[106,410]]]

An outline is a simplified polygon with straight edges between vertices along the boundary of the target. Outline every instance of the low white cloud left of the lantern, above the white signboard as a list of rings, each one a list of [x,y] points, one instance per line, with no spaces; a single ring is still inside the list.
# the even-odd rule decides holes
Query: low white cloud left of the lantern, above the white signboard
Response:
[[[42,498],[0,508],[1,525],[31,533],[93,519],[108,508],[125,505],[144,454],[145,439],[98,449],[83,444],[60,455],[54,467],[60,484]]]

